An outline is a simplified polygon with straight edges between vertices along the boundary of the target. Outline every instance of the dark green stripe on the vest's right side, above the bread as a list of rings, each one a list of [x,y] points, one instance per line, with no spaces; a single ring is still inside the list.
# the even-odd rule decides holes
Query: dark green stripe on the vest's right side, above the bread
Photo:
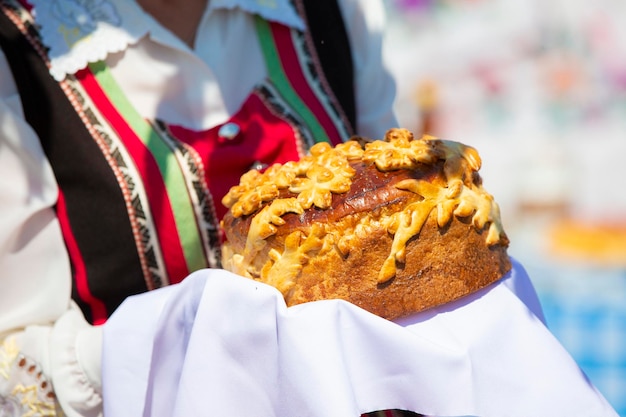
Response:
[[[311,112],[311,109],[304,104],[289,82],[280,61],[270,23],[260,16],[256,16],[256,28],[270,80],[272,80],[283,99],[300,115],[304,123],[309,127],[315,141],[330,142],[326,130],[324,130],[313,112]]]

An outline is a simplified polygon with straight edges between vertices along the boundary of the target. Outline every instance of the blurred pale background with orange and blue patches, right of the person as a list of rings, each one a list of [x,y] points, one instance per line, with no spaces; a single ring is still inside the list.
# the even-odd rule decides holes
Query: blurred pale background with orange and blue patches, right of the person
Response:
[[[400,124],[478,149],[548,326],[626,417],[626,1],[386,5]]]

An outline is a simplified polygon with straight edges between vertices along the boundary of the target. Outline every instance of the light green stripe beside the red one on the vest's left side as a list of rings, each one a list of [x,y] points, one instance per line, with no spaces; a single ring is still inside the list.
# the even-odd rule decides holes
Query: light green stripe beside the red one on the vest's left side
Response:
[[[207,261],[202,250],[202,239],[195,221],[196,216],[185,177],[170,146],[128,101],[104,62],[92,63],[89,68],[111,102],[150,151],[159,167],[172,206],[174,221],[188,270],[192,272],[205,268]],[[194,219],[194,221],[190,221],[190,219]]]

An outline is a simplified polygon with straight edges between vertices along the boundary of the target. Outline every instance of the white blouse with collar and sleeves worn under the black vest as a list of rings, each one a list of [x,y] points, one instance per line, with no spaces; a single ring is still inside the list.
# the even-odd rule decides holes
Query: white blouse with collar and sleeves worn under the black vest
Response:
[[[225,122],[267,75],[255,13],[304,26],[287,0],[211,0],[192,50],[132,0],[31,3],[55,78],[105,59],[142,116],[195,130]],[[339,5],[355,68],[356,131],[381,138],[397,125],[394,82],[381,51],[384,7],[374,0],[340,0]],[[86,36],[68,30],[71,25],[95,30]],[[0,409],[28,400],[43,414],[49,406],[45,378],[68,416],[97,416],[102,413],[102,329],[88,325],[71,302],[56,199],[52,169],[24,121],[0,51]]]

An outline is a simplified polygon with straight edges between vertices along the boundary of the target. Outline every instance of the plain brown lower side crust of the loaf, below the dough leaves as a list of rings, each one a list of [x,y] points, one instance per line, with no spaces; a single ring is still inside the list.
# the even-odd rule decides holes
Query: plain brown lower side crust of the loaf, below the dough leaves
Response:
[[[471,224],[454,221],[444,233],[442,239],[431,218],[420,237],[409,242],[406,261],[398,265],[396,276],[381,284],[372,272],[380,268],[391,247],[384,231],[355,242],[359,250],[345,259],[334,251],[312,258],[288,303],[341,298],[393,320],[471,294],[510,269],[506,249],[487,247],[484,234],[476,233]],[[320,270],[325,271],[321,276]]]

